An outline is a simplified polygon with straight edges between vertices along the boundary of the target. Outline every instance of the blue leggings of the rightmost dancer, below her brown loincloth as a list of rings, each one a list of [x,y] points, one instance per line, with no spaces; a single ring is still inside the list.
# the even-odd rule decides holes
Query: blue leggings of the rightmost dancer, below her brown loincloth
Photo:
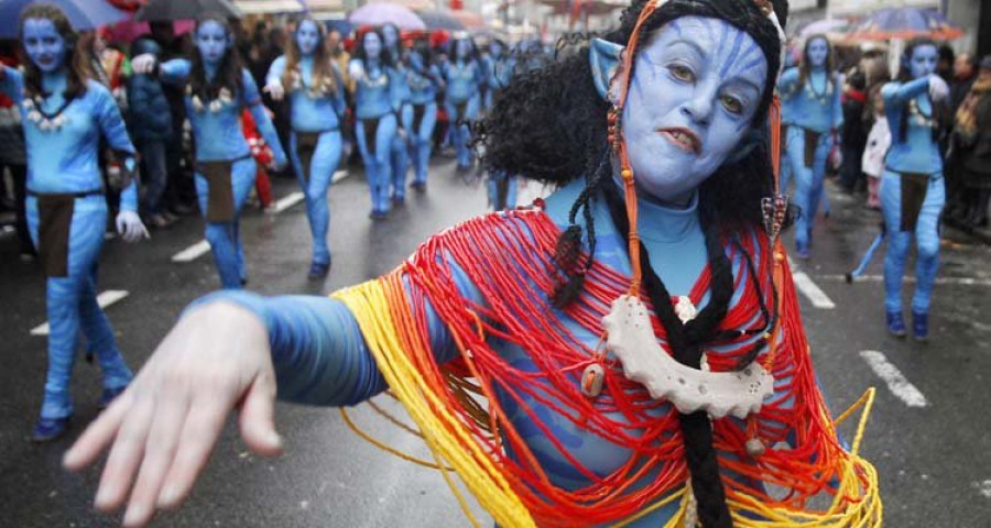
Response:
[[[901,231],[902,179],[897,173],[885,170],[881,175],[881,212],[887,232],[887,253],[884,255],[884,308],[889,312],[902,311],[902,276],[905,274],[905,257],[912,244],[912,232]],[[912,311],[929,312],[933,285],[939,271],[939,215],[946,202],[943,174],[929,178],[926,200],[923,202],[915,224],[915,296]]]

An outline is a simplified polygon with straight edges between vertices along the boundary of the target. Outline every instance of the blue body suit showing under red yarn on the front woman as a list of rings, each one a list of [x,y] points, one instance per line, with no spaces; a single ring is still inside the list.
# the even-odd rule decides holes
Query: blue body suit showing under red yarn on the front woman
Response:
[[[564,187],[547,199],[547,215],[560,229],[568,224],[568,210],[574,199],[584,188],[584,182],[576,182]],[[627,241],[621,237],[609,218],[609,212],[601,200],[593,202],[596,209],[597,240],[596,257],[601,263],[629,276],[631,273],[625,254]],[[668,286],[672,295],[687,295],[707,264],[705,238],[698,220],[697,199],[693,199],[687,209],[667,209],[649,201],[640,201],[640,233],[643,243],[652,255],[656,272]],[[753,255],[756,260],[759,255]],[[733,275],[738,277],[738,290],[731,301],[740,301],[745,288],[748,267],[741,256],[732,261]],[[472,302],[483,300],[467,275],[456,268],[456,279],[460,294]],[[409,285],[412,288],[415,286]],[[379,374],[375,362],[367,349],[351,312],[339,301],[307,296],[286,296],[263,298],[261,296],[237,292],[219,293],[200,299],[198,304],[224,299],[237,302],[259,315],[265,322],[272,345],[272,358],[277,377],[279,396],[283,400],[311,405],[345,406],[356,405],[386,388]],[[703,299],[703,305],[708,297]],[[549,301],[547,302],[549,306]],[[447,328],[440,323],[433,308],[427,305],[429,320],[431,345],[438,362],[458,355],[456,345]],[[543,317],[543,316],[542,316]],[[576,338],[587,345],[593,346],[599,336],[581,328],[564,312],[553,309],[547,317],[557,317],[565,322]],[[759,316],[758,316],[759,317]],[[747,321],[751,324],[754,321]],[[494,350],[512,361],[514,366],[536,370],[529,353],[515,344],[493,339]],[[714,349],[715,353],[719,348]],[[788,377],[775,381],[776,386],[789,382]],[[554,435],[564,439],[569,453],[585,468],[600,475],[606,475],[623,464],[629,451],[623,447],[610,443],[601,438],[577,428],[569,419],[556,415],[554,410],[540,404],[530,396],[527,404],[536,409],[541,421]],[[784,407],[783,396],[774,395],[771,402]],[[546,435],[533,418],[522,410],[512,397],[502,395],[501,404],[516,430],[527,441],[549,479],[558,486],[578,490],[591,485],[592,482],[575,469],[575,464],[546,441]],[[658,416],[671,410],[668,405],[660,406]],[[723,455],[733,457],[728,453]],[[660,471],[660,469],[657,470]],[[655,477],[657,471],[650,472],[643,479]],[[629,525],[632,527],[663,526],[678,509],[678,502]]]

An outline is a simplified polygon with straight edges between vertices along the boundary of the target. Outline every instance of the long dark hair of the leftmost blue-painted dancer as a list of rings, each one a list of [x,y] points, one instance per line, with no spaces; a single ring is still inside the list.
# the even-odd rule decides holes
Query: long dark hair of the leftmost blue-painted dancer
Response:
[[[56,6],[51,3],[32,3],[21,11],[20,22],[20,40],[24,42],[24,21],[28,19],[45,19],[52,22],[58,35],[65,40],[65,64],[68,75],[65,85],[63,98],[66,101],[86,94],[86,82],[95,78],[92,66],[89,64],[89,56],[83,48],[79,35],[73,30],[65,13]],[[42,70],[31,61],[24,46],[21,46],[21,64],[24,65],[24,91],[29,97],[47,96],[42,85]]]

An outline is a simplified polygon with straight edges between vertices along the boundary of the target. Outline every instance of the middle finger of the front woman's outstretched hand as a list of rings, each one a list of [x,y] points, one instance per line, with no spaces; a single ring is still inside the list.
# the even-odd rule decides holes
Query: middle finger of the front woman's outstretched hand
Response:
[[[155,419],[144,444],[144,461],[131,491],[124,526],[144,526],[155,513],[165,473],[175,458],[183,422],[189,413],[185,392],[175,391],[155,409]]]

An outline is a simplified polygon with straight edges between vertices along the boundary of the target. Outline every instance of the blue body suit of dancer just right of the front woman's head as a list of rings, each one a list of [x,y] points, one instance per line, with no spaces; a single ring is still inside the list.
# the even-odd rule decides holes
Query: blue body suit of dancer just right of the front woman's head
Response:
[[[834,132],[843,121],[841,90],[834,86],[826,72],[813,72],[805,85],[799,86],[798,68],[789,68],[782,74],[778,89],[782,122],[788,124],[788,135],[785,138],[786,160],[795,178],[795,202],[802,208],[795,222],[795,245],[799,251],[807,251],[812,243],[816,212],[823,199],[826,158],[834,146]],[[818,134],[816,145],[807,147],[806,141],[815,138],[815,134]],[[782,190],[786,188],[786,184],[782,185]]]

